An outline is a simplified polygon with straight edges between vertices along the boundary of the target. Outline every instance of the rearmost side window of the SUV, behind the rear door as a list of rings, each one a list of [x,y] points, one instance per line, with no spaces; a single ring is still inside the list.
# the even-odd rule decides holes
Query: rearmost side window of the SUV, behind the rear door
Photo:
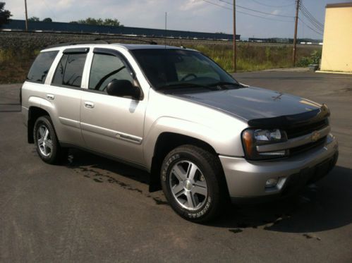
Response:
[[[51,64],[53,63],[59,51],[41,52],[28,73],[27,80],[32,82],[44,83],[47,78]]]

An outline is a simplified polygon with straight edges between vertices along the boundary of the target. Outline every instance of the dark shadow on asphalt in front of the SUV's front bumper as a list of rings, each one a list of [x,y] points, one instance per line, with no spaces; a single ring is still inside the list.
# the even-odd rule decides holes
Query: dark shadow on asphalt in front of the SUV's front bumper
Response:
[[[233,233],[242,232],[243,228],[288,233],[339,228],[352,223],[351,189],[352,169],[336,166],[326,178],[309,185],[299,195],[265,204],[232,206],[211,225],[229,228]]]

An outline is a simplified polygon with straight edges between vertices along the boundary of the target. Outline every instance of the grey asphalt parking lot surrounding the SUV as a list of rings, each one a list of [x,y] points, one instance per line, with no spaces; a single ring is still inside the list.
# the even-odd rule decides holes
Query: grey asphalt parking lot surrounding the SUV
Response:
[[[80,151],[44,164],[26,142],[20,85],[0,85],[0,262],[352,262],[352,76],[235,76],[326,103],[340,157],[298,197],[229,207],[210,225],[177,216],[143,171]]]

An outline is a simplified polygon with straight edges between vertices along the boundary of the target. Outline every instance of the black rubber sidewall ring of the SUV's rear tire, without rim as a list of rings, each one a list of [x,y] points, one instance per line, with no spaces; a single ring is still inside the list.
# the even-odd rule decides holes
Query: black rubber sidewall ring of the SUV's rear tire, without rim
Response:
[[[38,128],[42,125],[47,127],[47,129],[49,130],[49,133],[51,135],[51,142],[52,142],[53,147],[51,149],[51,154],[48,157],[44,156],[42,154],[42,152],[40,152],[40,147],[38,145],[37,132],[38,132]],[[35,142],[35,149],[37,150],[37,153],[39,154],[40,158],[49,164],[54,163],[54,161],[56,160],[56,155],[58,154],[59,145],[58,145],[58,141],[56,138],[54,126],[52,125],[49,117],[42,116],[40,118],[37,118],[37,121],[35,121],[34,130],[33,130],[33,137],[34,137],[34,142]]]

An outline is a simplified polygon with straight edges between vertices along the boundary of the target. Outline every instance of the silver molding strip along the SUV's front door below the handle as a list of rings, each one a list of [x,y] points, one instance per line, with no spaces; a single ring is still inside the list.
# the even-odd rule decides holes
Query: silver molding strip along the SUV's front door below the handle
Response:
[[[107,137],[112,137],[115,139],[124,140],[126,142],[133,142],[138,145],[140,145],[142,143],[141,137],[131,135],[128,133],[121,133],[116,130],[110,130],[107,128],[102,128],[102,127],[95,126],[95,125],[88,124],[88,123],[80,123],[80,127],[82,128],[82,130],[87,130],[91,133],[97,133],[97,134],[104,135]]]

